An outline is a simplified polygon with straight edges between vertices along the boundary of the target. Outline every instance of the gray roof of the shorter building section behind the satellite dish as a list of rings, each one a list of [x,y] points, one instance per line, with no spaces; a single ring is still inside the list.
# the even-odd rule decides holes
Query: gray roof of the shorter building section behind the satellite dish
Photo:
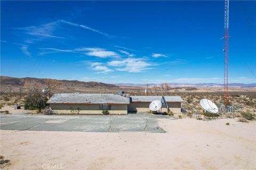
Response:
[[[180,96],[164,96],[167,102],[184,102]],[[162,96],[130,96],[130,102],[151,102],[161,100]]]

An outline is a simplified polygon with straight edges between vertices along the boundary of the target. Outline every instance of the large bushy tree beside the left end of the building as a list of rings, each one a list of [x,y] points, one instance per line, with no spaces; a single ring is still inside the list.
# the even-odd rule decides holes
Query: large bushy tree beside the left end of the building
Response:
[[[25,109],[38,110],[41,112],[46,107],[47,97],[43,91],[39,88],[33,88],[30,90],[28,96],[25,98]]]

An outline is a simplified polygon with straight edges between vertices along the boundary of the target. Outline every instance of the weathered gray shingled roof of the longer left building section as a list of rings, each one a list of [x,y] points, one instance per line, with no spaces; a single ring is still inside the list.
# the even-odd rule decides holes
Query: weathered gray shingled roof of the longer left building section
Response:
[[[117,94],[54,94],[47,103],[130,104],[130,99]]]

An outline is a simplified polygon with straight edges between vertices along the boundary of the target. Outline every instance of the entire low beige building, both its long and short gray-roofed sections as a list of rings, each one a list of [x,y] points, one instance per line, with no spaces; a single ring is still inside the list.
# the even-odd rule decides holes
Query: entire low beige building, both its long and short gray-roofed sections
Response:
[[[179,96],[164,96],[170,111],[181,112]],[[129,94],[54,94],[47,104],[58,114],[102,114],[107,109],[110,114],[128,112],[149,112],[149,104],[161,100],[162,96],[130,96]],[[162,108],[162,112],[166,112]]]

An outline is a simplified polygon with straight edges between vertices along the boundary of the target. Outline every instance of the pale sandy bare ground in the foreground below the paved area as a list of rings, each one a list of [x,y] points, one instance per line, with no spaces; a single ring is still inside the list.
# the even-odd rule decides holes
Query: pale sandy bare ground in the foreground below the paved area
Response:
[[[226,125],[229,122],[230,125]],[[256,123],[161,120],[167,133],[1,130],[4,169],[255,169]]]

